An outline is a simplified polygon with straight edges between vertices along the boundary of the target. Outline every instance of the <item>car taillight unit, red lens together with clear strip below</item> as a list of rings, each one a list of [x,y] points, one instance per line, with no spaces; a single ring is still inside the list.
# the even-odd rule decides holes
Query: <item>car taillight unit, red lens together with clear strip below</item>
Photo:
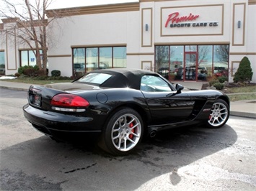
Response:
[[[79,112],[81,109],[65,109],[65,108],[84,108],[89,106],[89,102],[78,95],[61,93],[61,94],[55,95],[52,98],[52,100],[50,101],[50,106],[53,106],[52,108],[58,111],[78,111]],[[82,109],[81,111],[85,111],[85,110]]]

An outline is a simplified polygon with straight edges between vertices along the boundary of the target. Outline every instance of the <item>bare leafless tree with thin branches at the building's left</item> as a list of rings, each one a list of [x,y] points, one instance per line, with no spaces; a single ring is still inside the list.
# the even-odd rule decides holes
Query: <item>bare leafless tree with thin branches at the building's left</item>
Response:
[[[0,17],[12,19],[14,24],[4,30],[6,34],[19,39],[19,43],[25,43],[35,54],[37,66],[43,73],[47,70],[47,30],[48,21],[46,9],[52,0],[36,0],[33,4],[30,0],[9,1],[0,0],[4,9],[0,9]],[[40,54],[40,52],[42,52]]]

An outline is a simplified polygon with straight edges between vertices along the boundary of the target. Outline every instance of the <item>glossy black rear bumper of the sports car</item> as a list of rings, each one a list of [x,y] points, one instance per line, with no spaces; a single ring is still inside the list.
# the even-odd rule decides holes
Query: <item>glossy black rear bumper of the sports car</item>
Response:
[[[53,131],[72,133],[101,132],[101,127],[97,126],[95,120],[91,117],[43,111],[29,104],[23,106],[23,112],[27,121],[44,134],[51,135]]]

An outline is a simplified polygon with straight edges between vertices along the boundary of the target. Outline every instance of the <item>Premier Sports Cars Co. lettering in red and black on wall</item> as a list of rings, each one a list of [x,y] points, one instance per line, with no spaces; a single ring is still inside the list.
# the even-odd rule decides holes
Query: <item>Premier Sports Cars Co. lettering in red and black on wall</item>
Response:
[[[179,12],[174,12],[168,15],[165,27],[217,27],[218,22],[192,22],[198,19],[199,15],[189,14],[188,16],[179,17]]]

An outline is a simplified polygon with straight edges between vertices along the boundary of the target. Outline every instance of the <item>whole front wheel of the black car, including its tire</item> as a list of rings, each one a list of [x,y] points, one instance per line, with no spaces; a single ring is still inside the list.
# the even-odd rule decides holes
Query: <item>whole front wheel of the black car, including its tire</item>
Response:
[[[207,121],[209,128],[220,128],[229,119],[229,105],[226,101],[218,99],[211,108],[211,113]]]

